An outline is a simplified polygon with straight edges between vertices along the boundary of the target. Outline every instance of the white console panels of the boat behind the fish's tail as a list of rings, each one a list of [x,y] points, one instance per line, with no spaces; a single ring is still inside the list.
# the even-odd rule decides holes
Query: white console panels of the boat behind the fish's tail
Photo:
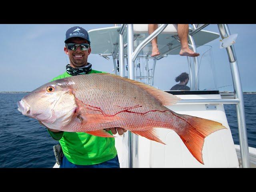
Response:
[[[182,99],[221,99],[213,95],[177,95]],[[238,168],[238,157],[228,126],[223,104],[215,104],[215,110],[207,110],[205,104],[176,104],[168,108],[180,114],[206,118],[222,123],[226,128],[205,138],[202,150],[204,165],[188,151],[178,134],[173,130],[158,128],[157,133],[166,145],[138,137],[139,168]],[[128,134],[116,138],[116,148],[121,168],[128,168]]]

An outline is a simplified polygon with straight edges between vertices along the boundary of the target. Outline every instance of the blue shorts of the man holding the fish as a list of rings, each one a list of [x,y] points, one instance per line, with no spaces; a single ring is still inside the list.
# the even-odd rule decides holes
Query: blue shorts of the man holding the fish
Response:
[[[60,168],[120,168],[120,164],[117,155],[113,159],[95,165],[76,165],[68,161],[63,155]]]

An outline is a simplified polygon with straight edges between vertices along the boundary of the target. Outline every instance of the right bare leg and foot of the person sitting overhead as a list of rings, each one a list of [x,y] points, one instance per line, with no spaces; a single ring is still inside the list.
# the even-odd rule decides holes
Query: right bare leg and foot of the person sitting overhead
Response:
[[[180,55],[181,56],[190,56],[196,57],[199,56],[198,53],[192,51],[188,47],[188,24],[178,24],[178,36],[180,38]]]

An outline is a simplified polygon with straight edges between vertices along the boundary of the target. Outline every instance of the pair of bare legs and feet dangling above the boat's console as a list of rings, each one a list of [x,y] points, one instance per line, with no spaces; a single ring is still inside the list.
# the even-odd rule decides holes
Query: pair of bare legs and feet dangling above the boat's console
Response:
[[[158,28],[158,24],[148,24],[148,33],[152,34],[156,29]],[[192,51],[188,47],[188,24],[178,24],[178,36],[180,38],[180,56],[190,56],[190,57],[196,57],[199,56],[198,53]],[[152,44],[152,54],[151,56],[158,56],[160,55],[160,52],[158,50],[157,46],[157,37],[154,38],[151,41]]]

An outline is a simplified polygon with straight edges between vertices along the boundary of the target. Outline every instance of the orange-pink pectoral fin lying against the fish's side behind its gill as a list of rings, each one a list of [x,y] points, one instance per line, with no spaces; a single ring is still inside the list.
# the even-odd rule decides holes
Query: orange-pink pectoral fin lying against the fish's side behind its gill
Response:
[[[101,124],[122,120],[122,118],[118,116],[104,116],[102,114],[79,114],[77,118],[81,120],[82,124],[86,125]]]

